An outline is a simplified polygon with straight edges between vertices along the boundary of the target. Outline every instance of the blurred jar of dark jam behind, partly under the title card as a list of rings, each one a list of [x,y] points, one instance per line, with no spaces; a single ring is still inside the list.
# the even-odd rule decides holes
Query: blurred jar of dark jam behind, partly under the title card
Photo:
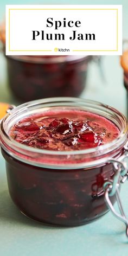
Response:
[[[78,97],[91,56],[6,56],[9,87],[21,102]]]

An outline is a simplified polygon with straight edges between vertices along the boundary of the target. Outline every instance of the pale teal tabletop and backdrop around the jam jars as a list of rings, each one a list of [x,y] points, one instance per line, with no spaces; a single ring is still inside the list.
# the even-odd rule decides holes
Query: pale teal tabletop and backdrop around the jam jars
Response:
[[[21,4],[6,1],[6,4]],[[63,3],[62,1],[60,1]],[[35,1],[22,1],[22,4]],[[55,3],[49,1],[48,3]],[[57,3],[57,2],[56,2]],[[65,1],[65,4],[68,1]],[[71,1],[71,4],[78,4]],[[128,2],[126,1],[81,1],[81,4],[123,4],[123,36],[128,39]],[[79,4],[80,4],[79,3]],[[45,2],[39,1],[39,4]],[[0,20],[4,17],[5,1],[1,1]],[[116,107],[126,114],[126,92],[123,86],[123,71],[119,56],[103,56],[101,76],[96,63],[89,65],[87,87],[82,98],[93,99]],[[9,89],[6,61],[0,54],[0,101],[18,105]],[[0,155],[0,255],[1,256],[120,256],[127,255],[128,239],[125,225],[110,212],[101,219],[85,226],[59,228],[44,226],[27,219],[12,203],[7,187],[4,159]],[[128,216],[127,182],[122,185],[121,198]]]

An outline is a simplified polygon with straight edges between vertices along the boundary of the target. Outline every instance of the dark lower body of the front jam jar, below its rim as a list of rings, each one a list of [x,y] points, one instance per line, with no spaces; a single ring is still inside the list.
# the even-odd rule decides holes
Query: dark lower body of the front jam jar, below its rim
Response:
[[[4,150],[11,199],[26,216],[57,226],[79,226],[107,213],[103,184],[112,180],[112,164],[91,169],[35,167]],[[116,199],[112,197],[114,203]]]

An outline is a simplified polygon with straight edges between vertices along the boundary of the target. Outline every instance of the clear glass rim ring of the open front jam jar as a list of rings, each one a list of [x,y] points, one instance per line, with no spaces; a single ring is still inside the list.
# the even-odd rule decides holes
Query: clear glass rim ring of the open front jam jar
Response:
[[[106,143],[104,145],[100,145],[97,146],[95,148],[90,148],[90,149],[83,149],[83,150],[74,150],[74,151],[54,151],[54,150],[46,150],[46,149],[38,149],[38,148],[33,148],[27,145],[23,145],[21,143],[16,142],[16,140],[12,139],[11,137],[8,136],[8,133],[5,129],[5,123],[8,121],[8,119],[10,119],[11,117],[17,117],[17,115],[21,114],[21,111],[27,111],[27,108],[33,108],[37,107],[37,106],[41,106],[41,104],[44,104],[44,106],[56,106],[56,104],[59,104],[59,106],[63,106],[63,104],[67,104],[67,106],[69,106],[70,104],[74,105],[74,107],[76,108],[76,105],[82,108],[86,105],[90,107],[90,111],[94,110],[94,107],[97,108],[97,112],[92,111],[95,114],[99,114],[104,116],[103,113],[113,113],[114,117],[117,119],[119,118],[119,120],[121,121],[121,125],[122,125],[122,130],[120,131],[119,137],[117,137],[116,139],[112,140],[112,142],[110,143]],[[91,108],[92,107],[92,108]],[[38,108],[37,108],[38,109]],[[104,110],[104,111],[103,111]],[[99,111],[99,112],[98,112]],[[29,113],[29,112],[28,112]],[[108,116],[105,115],[106,118],[108,118]],[[109,119],[109,118],[108,118]],[[116,110],[113,107],[110,107],[108,105],[105,104],[101,104],[98,101],[92,101],[92,100],[86,100],[86,99],[80,99],[80,98],[69,98],[69,97],[57,97],[57,98],[47,98],[47,99],[41,99],[41,100],[34,100],[34,101],[29,101],[29,103],[24,103],[16,108],[14,108],[13,110],[10,111],[10,113],[8,113],[1,121],[1,128],[0,128],[0,136],[1,136],[1,145],[2,148],[5,149],[5,151],[7,151],[10,155],[15,155],[14,151],[18,151],[18,153],[20,153],[20,155],[18,155],[18,157],[20,157],[21,161],[23,161],[23,156],[21,157],[21,155],[24,155],[24,153],[27,153],[30,157],[30,155],[34,155],[33,157],[37,157],[37,154],[39,153],[40,157],[41,156],[49,156],[49,157],[53,157],[56,158],[60,157],[61,162],[62,162],[62,158],[65,156],[68,156],[68,159],[71,158],[75,158],[76,157],[76,162],[75,163],[77,166],[92,166],[93,164],[97,164],[97,163],[101,163],[104,162],[106,158],[109,158],[113,155],[117,154],[117,151],[123,149],[123,146],[125,145],[126,141],[127,141],[127,134],[128,134],[128,123],[127,123],[127,119],[125,118],[125,116],[123,114],[121,114],[118,110]],[[11,151],[11,152],[10,152]],[[16,157],[16,155],[14,156]],[[29,158],[28,157],[28,158]],[[90,161],[86,161],[88,159],[88,157],[90,158]],[[81,163],[77,161],[77,159],[83,159],[84,162]],[[31,159],[31,158],[30,158]],[[69,159],[68,161],[67,159],[67,165],[74,165],[74,163],[71,163]],[[39,160],[39,159],[38,159]],[[26,160],[24,159],[23,162],[30,162],[29,159]],[[33,162],[33,161],[32,161]],[[39,161],[40,162],[40,161]],[[34,162],[36,164],[36,161]],[[33,165],[35,165],[34,163],[31,163]],[[38,163],[38,166],[41,166],[42,162]],[[43,163],[44,164],[44,163]],[[57,166],[61,166],[62,163],[60,164],[56,164]],[[67,166],[66,165],[66,166]]]

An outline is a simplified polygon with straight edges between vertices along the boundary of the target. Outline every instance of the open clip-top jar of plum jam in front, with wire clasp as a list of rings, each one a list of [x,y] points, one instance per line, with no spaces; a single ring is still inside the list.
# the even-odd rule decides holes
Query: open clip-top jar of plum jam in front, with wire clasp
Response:
[[[12,200],[50,225],[83,225],[108,208],[117,215],[127,133],[123,114],[95,101],[49,98],[12,109],[0,130]]]

